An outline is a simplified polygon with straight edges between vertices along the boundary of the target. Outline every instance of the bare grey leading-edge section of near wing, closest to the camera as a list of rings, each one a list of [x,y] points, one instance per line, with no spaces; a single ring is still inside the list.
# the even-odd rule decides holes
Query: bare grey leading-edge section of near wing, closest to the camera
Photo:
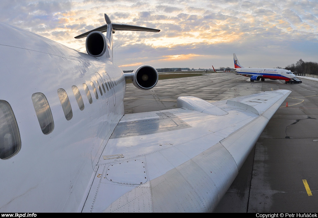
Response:
[[[133,202],[143,204],[143,201],[139,196],[136,198],[131,195],[135,194],[135,190],[145,187],[151,197],[151,212],[201,212],[202,208],[211,211],[238,174],[235,169],[236,164],[231,155],[218,143],[164,175],[125,193],[104,212],[132,212],[129,206]],[[224,190],[224,193],[220,195],[218,190]],[[149,197],[149,194],[146,196]],[[218,197],[212,199],[211,196]],[[121,204],[122,201],[125,203]]]

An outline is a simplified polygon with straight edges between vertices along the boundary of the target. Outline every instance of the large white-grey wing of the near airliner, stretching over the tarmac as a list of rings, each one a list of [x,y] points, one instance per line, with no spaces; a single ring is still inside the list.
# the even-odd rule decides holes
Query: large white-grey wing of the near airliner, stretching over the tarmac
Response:
[[[100,157],[82,212],[213,211],[291,91],[126,114]]]

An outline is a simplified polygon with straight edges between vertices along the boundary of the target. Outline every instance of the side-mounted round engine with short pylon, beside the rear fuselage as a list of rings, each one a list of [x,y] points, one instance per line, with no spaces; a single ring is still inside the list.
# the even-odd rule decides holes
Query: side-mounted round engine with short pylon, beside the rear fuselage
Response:
[[[133,84],[141,90],[152,89],[158,82],[157,70],[149,65],[142,65],[132,73],[124,73],[126,79],[131,79]]]

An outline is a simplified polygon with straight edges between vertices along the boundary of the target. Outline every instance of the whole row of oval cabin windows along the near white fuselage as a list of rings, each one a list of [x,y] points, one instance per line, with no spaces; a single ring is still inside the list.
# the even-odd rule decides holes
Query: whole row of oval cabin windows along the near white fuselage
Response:
[[[115,81],[106,81],[105,79],[103,79],[103,81],[100,80],[99,83],[97,80],[95,80],[97,89],[99,90],[101,96],[103,95],[102,91],[104,91],[104,94],[106,94],[106,90],[109,91],[110,89],[114,88],[114,86],[124,82],[125,78],[124,76],[121,76],[116,78]],[[98,93],[96,91],[95,84],[90,82],[90,85],[93,89],[95,98],[98,99]],[[83,88],[88,102],[92,104],[93,99],[88,86],[85,83],[83,83]],[[77,86],[73,85],[72,91],[79,106],[79,110],[84,110],[84,102]],[[66,120],[71,120],[73,117],[73,112],[66,91],[64,89],[58,89],[57,93]],[[54,121],[50,105],[45,95],[41,92],[32,94],[32,103],[43,134],[50,134],[54,129]],[[13,110],[7,101],[0,100],[0,158],[3,160],[9,159],[10,157],[16,155],[20,149],[20,132]]]

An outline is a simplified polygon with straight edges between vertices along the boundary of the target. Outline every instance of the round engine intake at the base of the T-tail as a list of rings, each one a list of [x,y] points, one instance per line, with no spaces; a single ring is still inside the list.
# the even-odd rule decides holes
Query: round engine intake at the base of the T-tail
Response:
[[[86,37],[87,53],[93,57],[100,57],[104,55],[108,47],[107,41],[106,36],[99,31],[89,33]]]

